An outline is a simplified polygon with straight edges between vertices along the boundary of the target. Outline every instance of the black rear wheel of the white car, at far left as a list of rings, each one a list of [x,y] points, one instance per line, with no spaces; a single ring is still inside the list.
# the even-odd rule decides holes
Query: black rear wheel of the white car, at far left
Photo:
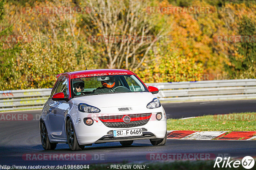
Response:
[[[40,136],[42,146],[45,150],[53,150],[56,148],[57,143],[51,143],[48,138],[48,133],[44,121],[40,121]]]

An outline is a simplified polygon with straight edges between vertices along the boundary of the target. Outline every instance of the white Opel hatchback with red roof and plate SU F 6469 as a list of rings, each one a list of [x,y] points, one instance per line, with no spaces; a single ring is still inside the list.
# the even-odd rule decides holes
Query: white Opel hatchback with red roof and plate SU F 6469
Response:
[[[166,115],[148,86],[132,71],[96,69],[62,73],[40,115],[43,148],[68,143],[71,150],[116,142],[132,145],[149,139],[166,142]]]

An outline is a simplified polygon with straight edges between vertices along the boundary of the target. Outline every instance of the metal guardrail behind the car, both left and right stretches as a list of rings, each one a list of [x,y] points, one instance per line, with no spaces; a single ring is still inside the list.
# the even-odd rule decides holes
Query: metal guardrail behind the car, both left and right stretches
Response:
[[[160,101],[256,98],[256,79],[146,83],[155,86]],[[0,91],[0,111],[42,108],[52,89]]]

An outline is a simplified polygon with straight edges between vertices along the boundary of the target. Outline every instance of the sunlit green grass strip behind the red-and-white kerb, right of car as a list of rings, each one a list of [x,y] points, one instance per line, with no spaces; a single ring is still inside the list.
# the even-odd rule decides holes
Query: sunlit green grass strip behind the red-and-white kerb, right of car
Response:
[[[256,131],[256,112],[207,115],[182,120],[168,119],[167,130]]]

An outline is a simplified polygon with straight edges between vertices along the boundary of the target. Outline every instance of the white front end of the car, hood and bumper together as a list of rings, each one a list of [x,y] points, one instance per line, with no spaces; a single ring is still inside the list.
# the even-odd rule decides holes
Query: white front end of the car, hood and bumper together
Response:
[[[76,113],[71,115],[75,125],[75,131],[78,143],[80,145],[95,143],[99,138],[107,135],[111,130],[146,128],[148,132],[153,133],[156,138],[164,138],[166,133],[166,118],[163,107],[148,109],[147,104],[156,98],[152,93],[119,93],[119,94],[102,94],[95,96],[76,97],[70,100],[71,103],[78,105],[79,103],[86,103],[97,107],[101,111],[99,113],[84,113],[76,110]],[[111,100],[110,100],[111,99]],[[119,111],[121,107],[132,107],[130,111]],[[163,118],[156,120],[156,113],[162,112]],[[139,113],[152,113],[151,119],[143,126],[132,128],[109,128],[105,126],[98,116],[112,116],[112,115],[131,115]],[[91,117],[94,123],[87,126],[83,123],[84,117]],[[76,123],[76,119],[80,118],[81,123]],[[157,127],[157,128],[156,128]]]

